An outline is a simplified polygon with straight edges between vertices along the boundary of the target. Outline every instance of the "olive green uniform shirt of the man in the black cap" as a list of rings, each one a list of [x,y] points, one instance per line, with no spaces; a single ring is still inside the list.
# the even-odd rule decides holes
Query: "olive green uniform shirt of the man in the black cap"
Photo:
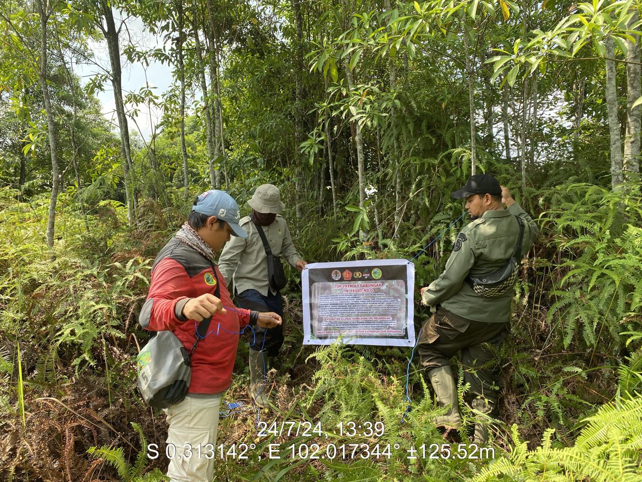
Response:
[[[485,298],[473,291],[465,278],[487,274],[505,265],[519,238],[515,217],[525,220],[521,259],[539,234],[537,224],[515,203],[507,210],[486,211],[460,231],[446,269],[430,283],[422,297],[426,305],[441,305],[458,316],[485,323],[506,323],[514,294],[509,290],[497,298]]]

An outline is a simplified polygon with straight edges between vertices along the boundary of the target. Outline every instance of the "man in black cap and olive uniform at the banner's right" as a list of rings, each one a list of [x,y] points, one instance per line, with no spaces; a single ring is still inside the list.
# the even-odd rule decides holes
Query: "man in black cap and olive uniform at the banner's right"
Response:
[[[457,236],[444,272],[421,289],[422,303],[431,307],[433,316],[422,327],[417,350],[437,403],[449,406],[435,424],[444,436],[456,440],[462,418],[450,359],[462,352],[473,409],[492,413],[499,373],[489,347],[501,345],[508,334],[517,263],[539,229],[492,175],[469,177],[451,196],[465,199],[471,222]],[[476,423],[474,442],[487,440],[487,424]]]

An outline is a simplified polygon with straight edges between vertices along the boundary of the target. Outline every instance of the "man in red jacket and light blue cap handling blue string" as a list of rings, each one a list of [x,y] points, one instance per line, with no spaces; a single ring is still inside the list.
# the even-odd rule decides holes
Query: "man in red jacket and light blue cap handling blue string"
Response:
[[[156,257],[141,310],[143,328],[171,330],[188,352],[196,326],[212,316],[209,332],[191,357],[187,397],[166,410],[167,475],[172,482],[211,482],[220,403],[232,380],[239,332],[247,325],[281,325],[276,313],[232,305],[215,260],[230,235],[247,237],[238,222],[238,204],[229,194],[210,190],[198,196],[187,222]],[[214,296],[217,289],[219,297]]]

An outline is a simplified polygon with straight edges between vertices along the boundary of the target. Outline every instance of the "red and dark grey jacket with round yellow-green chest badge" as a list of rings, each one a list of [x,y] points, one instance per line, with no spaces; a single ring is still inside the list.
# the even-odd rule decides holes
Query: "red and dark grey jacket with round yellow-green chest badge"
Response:
[[[183,307],[189,298],[214,294],[217,285],[223,305],[234,306],[227,280],[218,266],[178,238],[172,238],[152,266],[150,292],[139,317],[141,326],[155,332],[171,330],[189,352],[196,341],[197,324],[182,315]],[[238,308],[238,311],[227,310],[212,317],[209,334],[198,343],[191,359],[189,393],[221,393],[230,386],[238,332],[250,323],[250,310]]]

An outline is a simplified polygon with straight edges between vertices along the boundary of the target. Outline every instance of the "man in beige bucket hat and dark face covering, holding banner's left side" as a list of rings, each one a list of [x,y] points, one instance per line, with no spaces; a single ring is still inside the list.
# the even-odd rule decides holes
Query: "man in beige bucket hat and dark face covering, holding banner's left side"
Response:
[[[273,184],[262,184],[248,201],[252,215],[239,222],[247,233],[247,238],[230,240],[218,265],[225,281],[234,282],[234,291],[240,307],[252,310],[273,311],[281,316],[283,307],[281,293],[268,280],[268,255],[259,230],[263,231],[266,242],[274,256],[281,256],[292,267],[302,271],[307,264],[301,259],[294,247],[286,220],[279,215],[285,205],[281,202],[279,188]],[[275,357],[283,344],[283,328],[265,330],[257,328],[256,337],[250,343],[250,396],[259,407],[268,404],[268,397],[263,393],[265,381],[264,370],[268,370],[265,353]]]

